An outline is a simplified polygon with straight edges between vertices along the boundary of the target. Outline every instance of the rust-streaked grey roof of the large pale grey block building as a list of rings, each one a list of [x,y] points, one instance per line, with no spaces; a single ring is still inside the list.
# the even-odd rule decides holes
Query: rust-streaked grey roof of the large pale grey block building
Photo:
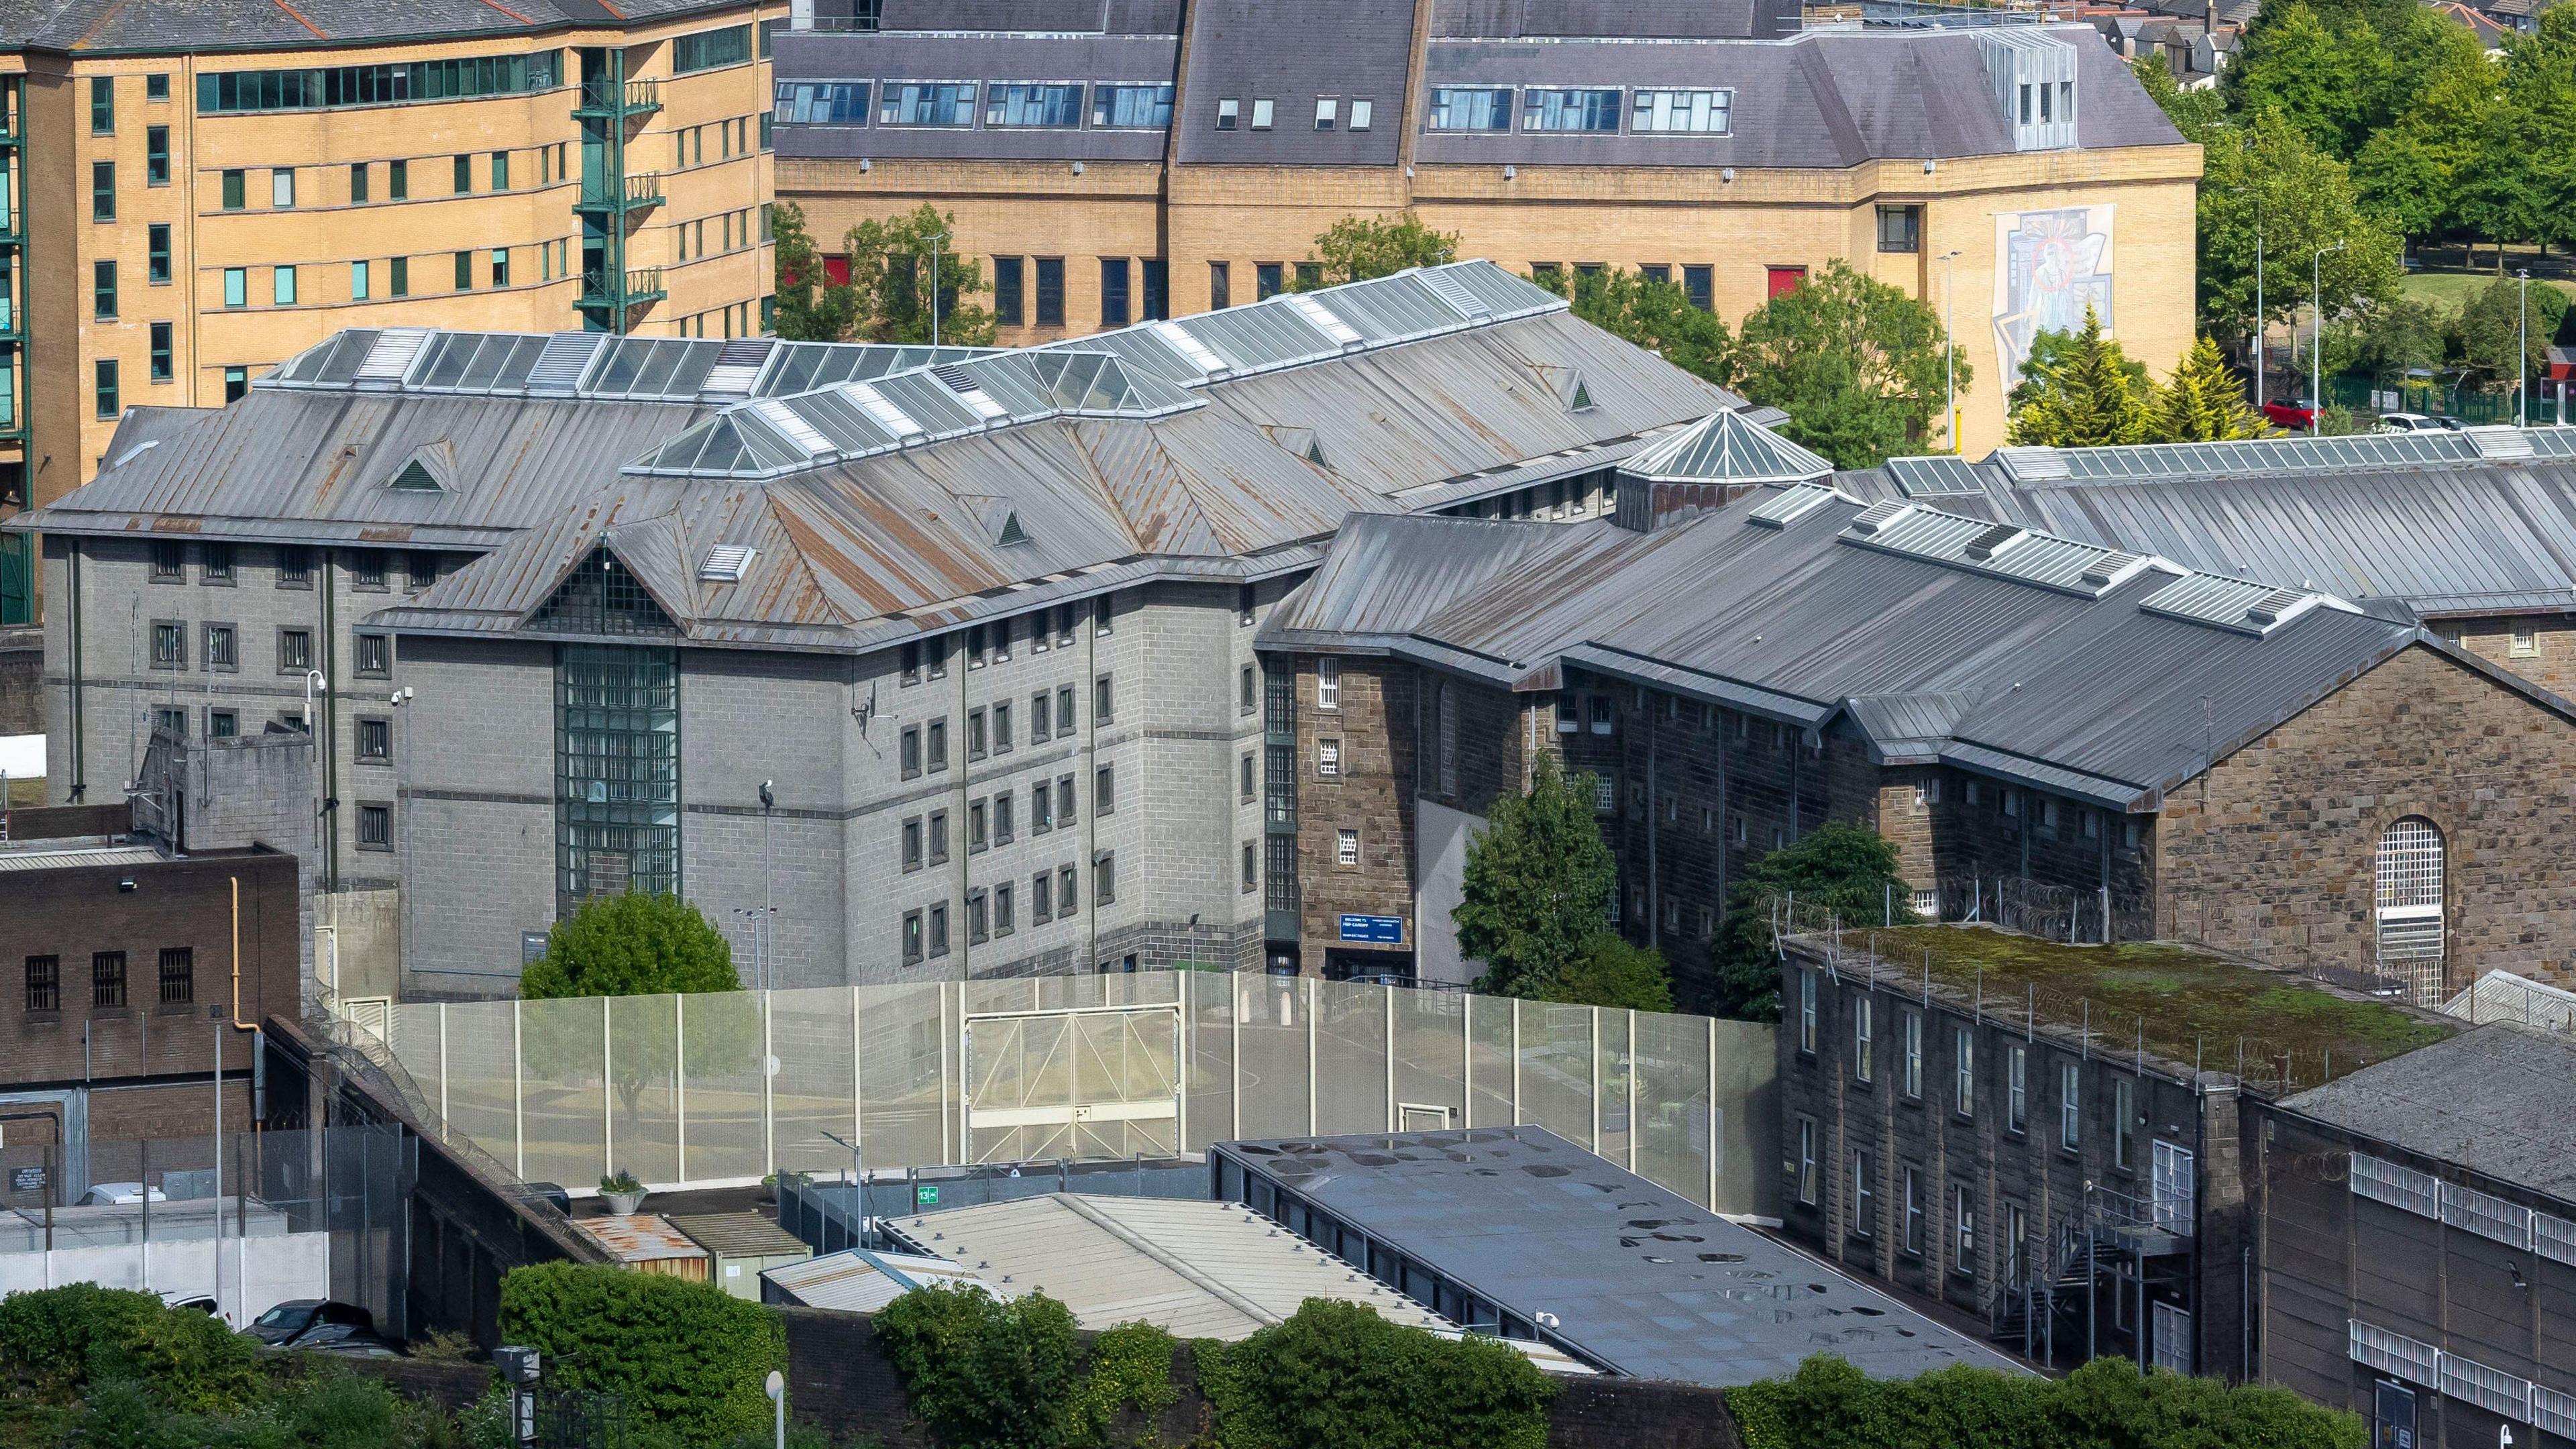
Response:
[[[917,410],[945,397],[966,415],[966,394],[943,374],[994,382],[1030,358],[1108,356],[1159,379],[1149,392],[1162,410],[1038,407],[747,477],[636,469],[690,428],[750,413],[775,420],[811,400],[848,405],[858,384],[768,394],[788,361],[811,376],[801,366],[811,353],[793,353],[765,371],[657,364],[611,379],[595,364],[577,382],[551,382],[556,392],[533,382],[425,392],[422,379],[448,376],[443,358],[469,343],[487,356],[492,340],[430,335],[410,371],[368,379],[399,338],[348,345],[358,338],[348,333],[314,348],[345,348],[330,366],[307,366],[307,353],[229,407],[137,413],[98,480],[8,526],[484,552],[374,616],[461,634],[518,629],[605,541],[685,642],[848,650],[1151,578],[1311,567],[1314,547],[1350,513],[1414,508],[1399,495],[1479,474],[1579,469],[1605,441],[1741,405],[1486,263],[1445,268],[1440,286],[1492,317],[1445,312],[1443,330],[1430,330],[1425,284],[1381,281],[1149,322],[1136,335],[878,371],[868,394],[904,394]],[[1298,333],[1291,315],[1373,330],[1334,340],[1311,322]],[[523,358],[518,340],[500,340]],[[1185,364],[1185,351],[1203,361]],[[827,376],[840,371],[824,361]],[[662,392],[647,389],[652,376],[665,376]],[[719,379],[729,392],[708,389]],[[1566,402],[1566,379],[1582,379],[1589,407]],[[433,472],[453,485],[386,487],[415,456],[438,456]],[[750,549],[739,578],[706,578],[719,544]]]

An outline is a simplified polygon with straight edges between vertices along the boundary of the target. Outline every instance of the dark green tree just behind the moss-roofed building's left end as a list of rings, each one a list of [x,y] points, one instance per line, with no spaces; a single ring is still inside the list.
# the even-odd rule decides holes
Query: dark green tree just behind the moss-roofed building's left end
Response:
[[[1726,892],[1716,946],[1718,1013],[1741,1021],[1780,1018],[1775,913],[1795,908],[1795,926],[1829,918],[1844,926],[1909,926],[1911,897],[1911,887],[1896,874],[1896,846],[1868,825],[1829,820],[1770,851]]]

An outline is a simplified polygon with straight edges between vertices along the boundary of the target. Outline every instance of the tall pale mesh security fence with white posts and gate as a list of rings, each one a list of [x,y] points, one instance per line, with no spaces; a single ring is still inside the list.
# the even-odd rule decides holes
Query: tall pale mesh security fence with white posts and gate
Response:
[[[384,1047],[448,1140],[574,1191],[1535,1122],[1759,1212],[1777,1129],[1770,1026],[1316,977],[410,1003]]]

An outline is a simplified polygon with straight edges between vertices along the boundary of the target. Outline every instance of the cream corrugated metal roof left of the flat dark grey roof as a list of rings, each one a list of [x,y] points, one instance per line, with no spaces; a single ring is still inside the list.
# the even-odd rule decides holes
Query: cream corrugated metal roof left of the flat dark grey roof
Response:
[[[1046,1194],[891,1227],[912,1250],[999,1292],[1046,1292],[1082,1328],[1144,1320],[1182,1338],[1236,1341],[1311,1297],[1363,1302],[1412,1328],[1455,1328],[1242,1204]]]

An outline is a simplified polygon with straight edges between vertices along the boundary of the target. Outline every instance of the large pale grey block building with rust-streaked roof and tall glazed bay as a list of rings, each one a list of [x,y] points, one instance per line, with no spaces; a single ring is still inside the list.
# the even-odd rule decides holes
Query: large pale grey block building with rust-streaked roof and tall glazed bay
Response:
[[[1319,544],[1597,518],[1739,405],[1489,263],[1025,353],[343,333],[13,523],[52,789],[312,683],[322,918],[404,993],[629,882],[773,985],[1249,964],[1252,639]]]

